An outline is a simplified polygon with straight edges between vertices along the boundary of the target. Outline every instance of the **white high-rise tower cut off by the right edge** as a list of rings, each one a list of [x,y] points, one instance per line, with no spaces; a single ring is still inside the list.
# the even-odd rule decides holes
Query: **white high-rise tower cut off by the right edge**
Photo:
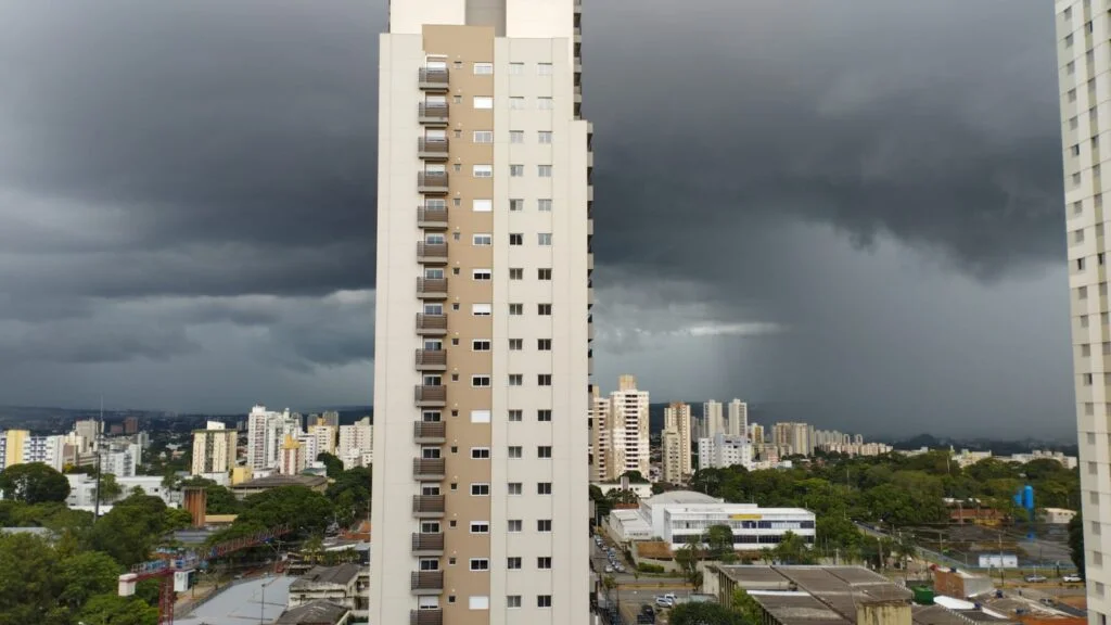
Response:
[[[1064,161],[1064,210],[1068,229],[1069,299],[1077,429],[1080,442],[1080,489],[1088,553],[1088,621],[1107,623],[1111,614],[1111,493],[1108,489],[1107,419],[1111,393],[1111,356],[1107,336],[1108,278],[1104,257],[1109,218],[1103,211],[1100,143],[1111,129],[1111,13],[1107,0],[1055,0],[1058,67],[1061,96],[1061,147]],[[1107,149],[1107,148],[1103,148]],[[1111,172],[1109,172],[1111,173]],[[1111,183],[1111,180],[1109,180]]]

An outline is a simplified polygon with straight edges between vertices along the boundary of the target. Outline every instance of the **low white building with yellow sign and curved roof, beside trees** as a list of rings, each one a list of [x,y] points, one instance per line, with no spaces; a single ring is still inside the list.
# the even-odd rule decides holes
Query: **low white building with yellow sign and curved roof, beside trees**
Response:
[[[658,537],[675,549],[700,543],[714,525],[733,530],[738,550],[768,549],[792,532],[814,542],[814,513],[803,508],[761,508],[755,504],[729,504],[693,493],[672,490],[640,503],[638,509],[615,509],[607,519],[611,537],[620,543]]]

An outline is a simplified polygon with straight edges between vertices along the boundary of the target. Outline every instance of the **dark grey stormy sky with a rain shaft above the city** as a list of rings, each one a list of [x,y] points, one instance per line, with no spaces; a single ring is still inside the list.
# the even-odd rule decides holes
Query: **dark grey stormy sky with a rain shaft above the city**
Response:
[[[0,0],[0,404],[370,401],[384,4]],[[1050,3],[585,4],[603,390],[1074,436]]]

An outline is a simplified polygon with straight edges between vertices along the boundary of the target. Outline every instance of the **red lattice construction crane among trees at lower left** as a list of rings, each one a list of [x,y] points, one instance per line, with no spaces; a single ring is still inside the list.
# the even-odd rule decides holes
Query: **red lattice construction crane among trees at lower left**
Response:
[[[161,559],[153,559],[131,567],[131,573],[120,575],[119,595],[130,597],[136,594],[136,585],[143,579],[160,579],[158,587],[158,625],[173,625],[173,604],[178,591],[189,589],[189,574],[204,568],[209,560],[232,552],[254,547],[289,534],[288,525],[263,529],[249,536],[219,543],[200,552],[167,553]]]

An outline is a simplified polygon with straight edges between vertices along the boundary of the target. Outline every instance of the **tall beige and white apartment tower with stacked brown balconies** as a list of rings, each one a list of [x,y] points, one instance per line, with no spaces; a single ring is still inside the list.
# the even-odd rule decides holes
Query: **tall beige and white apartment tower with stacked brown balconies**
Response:
[[[379,57],[376,625],[589,617],[580,2],[390,2]]]

